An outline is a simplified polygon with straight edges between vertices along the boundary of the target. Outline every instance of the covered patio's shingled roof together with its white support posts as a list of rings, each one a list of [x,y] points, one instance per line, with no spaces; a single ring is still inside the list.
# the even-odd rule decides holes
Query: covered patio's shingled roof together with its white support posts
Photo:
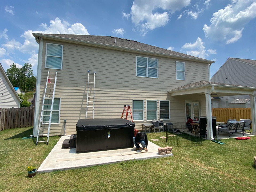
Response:
[[[256,88],[255,87],[245,87],[241,85],[231,85],[225,83],[216,83],[210,81],[198,81],[194,83],[189,83],[187,85],[177,87],[175,89],[169,90],[168,93],[171,96],[179,96],[179,95],[205,95],[206,101],[206,117],[207,119],[211,119],[211,97],[224,97],[231,95],[250,95],[251,102],[251,121],[252,121],[252,133],[255,134],[256,127],[256,106],[255,106],[255,95]],[[212,133],[212,122],[208,121],[207,126],[207,139],[213,140]]]

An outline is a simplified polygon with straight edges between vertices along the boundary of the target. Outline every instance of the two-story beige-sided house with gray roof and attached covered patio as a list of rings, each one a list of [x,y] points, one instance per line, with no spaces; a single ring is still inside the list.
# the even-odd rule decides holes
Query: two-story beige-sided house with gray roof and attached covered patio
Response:
[[[251,87],[210,82],[213,61],[130,39],[33,35],[39,43],[35,136],[48,71],[57,71],[50,135],[64,134],[64,127],[65,134],[75,134],[77,121],[86,118],[88,70],[96,72],[94,119],[121,118],[124,105],[130,105],[136,129],[153,119],[173,123],[185,123],[187,116],[205,115],[211,119],[211,95],[256,91]],[[254,121],[252,124],[255,128]],[[211,128],[209,121],[208,139],[213,139]]]

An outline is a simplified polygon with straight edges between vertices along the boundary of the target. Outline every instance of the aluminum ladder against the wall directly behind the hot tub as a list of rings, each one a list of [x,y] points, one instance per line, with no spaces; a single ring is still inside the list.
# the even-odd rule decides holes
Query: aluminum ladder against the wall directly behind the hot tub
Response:
[[[94,119],[95,74],[95,71],[93,73],[90,73],[90,70],[88,70],[86,119]]]

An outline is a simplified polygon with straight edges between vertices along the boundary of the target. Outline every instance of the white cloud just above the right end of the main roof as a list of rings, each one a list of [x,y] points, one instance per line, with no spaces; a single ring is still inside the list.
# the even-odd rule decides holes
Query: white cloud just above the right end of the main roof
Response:
[[[194,43],[186,43],[181,48],[182,49],[192,49],[191,51],[186,51],[186,54],[193,55],[195,57],[205,58],[211,54],[217,54],[216,50],[208,49],[205,50],[204,42],[200,37],[197,38],[197,41]]]

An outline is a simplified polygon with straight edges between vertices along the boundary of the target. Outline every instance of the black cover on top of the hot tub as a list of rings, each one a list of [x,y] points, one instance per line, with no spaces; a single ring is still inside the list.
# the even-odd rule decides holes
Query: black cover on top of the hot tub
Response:
[[[111,118],[111,119],[79,119],[77,121],[76,130],[99,130],[99,129],[120,129],[126,127],[135,127],[135,123],[122,119],[122,118]]]

